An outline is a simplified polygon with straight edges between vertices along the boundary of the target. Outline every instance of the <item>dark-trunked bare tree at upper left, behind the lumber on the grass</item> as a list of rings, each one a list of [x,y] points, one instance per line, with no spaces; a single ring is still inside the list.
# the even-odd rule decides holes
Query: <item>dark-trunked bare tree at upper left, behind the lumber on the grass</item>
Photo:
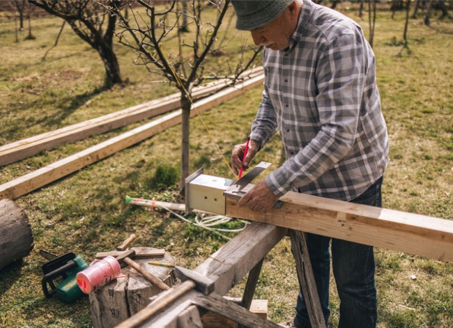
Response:
[[[116,15],[109,15],[105,6],[92,0],[29,0],[47,13],[64,19],[93,49],[105,66],[106,86],[122,83],[118,59],[114,52]],[[121,6],[121,0],[108,0]]]

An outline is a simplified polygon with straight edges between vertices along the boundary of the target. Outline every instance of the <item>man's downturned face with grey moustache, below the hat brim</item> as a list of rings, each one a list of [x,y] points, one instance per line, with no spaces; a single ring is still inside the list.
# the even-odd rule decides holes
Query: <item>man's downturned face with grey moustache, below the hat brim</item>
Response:
[[[272,22],[250,31],[253,42],[255,45],[263,45],[268,49],[282,50],[288,47],[297,22],[298,10],[293,3]]]

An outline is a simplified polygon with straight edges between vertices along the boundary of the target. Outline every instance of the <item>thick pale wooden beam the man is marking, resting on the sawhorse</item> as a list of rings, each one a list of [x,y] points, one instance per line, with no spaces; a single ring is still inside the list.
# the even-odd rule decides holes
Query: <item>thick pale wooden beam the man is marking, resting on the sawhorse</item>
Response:
[[[236,199],[227,198],[226,213],[230,217],[453,261],[452,220],[295,192],[280,200],[284,201],[281,209],[259,213],[238,207]]]

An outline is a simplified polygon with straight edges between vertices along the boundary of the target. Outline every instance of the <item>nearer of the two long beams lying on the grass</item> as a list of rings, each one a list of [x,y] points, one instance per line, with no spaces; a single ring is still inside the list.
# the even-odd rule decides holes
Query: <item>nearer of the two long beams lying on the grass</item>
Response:
[[[203,113],[209,109],[221,104],[224,101],[231,100],[240,93],[243,93],[250,88],[254,88],[261,84],[263,79],[262,75],[249,79],[242,84],[238,84],[234,87],[230,87],[216,93],[213,96],[206,97],[204,100],[195,102],[192,105],[190,116]],[[196,109],[196,110],[195,110]],[[174,111],[171,114],[167,114],[157,120],[153,120],[150,123],[137,127],[129,132],[115,136],[112,139],[99,143],[91,148],[83,150],[75,155],[61,159],[58,162],[54,162],[45,166],[41,169],[22,175],[20,178],[6,182],[0,185],[0,199],[10,198],[15,199],[24,194],[32,192],[44,185],[49,184],[63,178],[70,173],[73,173],[79,169],[82,169],[89,164],[98,162],[109,155],[112,155],[120,150],[128,148],[135,143],[139,143],[150,136],[158,134],[169,127],[181,123],[182,110]]]

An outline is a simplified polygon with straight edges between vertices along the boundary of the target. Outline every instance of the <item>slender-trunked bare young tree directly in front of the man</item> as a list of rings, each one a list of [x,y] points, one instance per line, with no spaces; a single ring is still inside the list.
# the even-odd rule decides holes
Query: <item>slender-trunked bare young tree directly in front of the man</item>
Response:
[[[137,64],[145,65],[150,72],[162,75],[181,92],[182,140],[181,140],[181,194],[185,178],[190,173],[190,109],[192,88],[209,79],[229,78],[231,83],[252,65],[259,49],[252,49],[244,59],[244,50],[238,62],[230,65],[211,64],[209,56],[215,48],[220,26],[229,9],[227,1],[187,1],[186,13],[178,9],[178,0],[154,5],[151,1],[137,0],[141,10],[131,10],[126,19],[116,2],[112,14],[118,19],[117,35],[121,43],[134,49]],[[209,5],[209,6],[208,6]],[[213,10],[217,12],[213,17]],[[206,15],[204,15],[206,13]],[[206,18],[210,13],[210,19]],[[187,19],[184,22],[183,16]],[[190,26],[190,33],[183,34],[182,26]],[[235,33],[235,32],[233,32]],[[177,41],[177,43],[176,43]],[[226,42],[228,44],[229,42]],[[245,48],[245,47],[244,47]],[[217,57],[218,58],[218,57]]]

